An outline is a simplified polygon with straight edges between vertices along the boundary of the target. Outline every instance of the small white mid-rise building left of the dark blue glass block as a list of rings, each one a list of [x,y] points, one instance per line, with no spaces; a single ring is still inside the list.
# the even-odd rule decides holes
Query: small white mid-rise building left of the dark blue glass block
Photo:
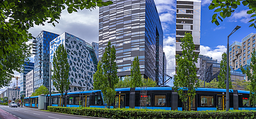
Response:
[[[26,96],[25,97],[30,97],[33,92],[34,92],[34,70],[31,70],[26,75]]]

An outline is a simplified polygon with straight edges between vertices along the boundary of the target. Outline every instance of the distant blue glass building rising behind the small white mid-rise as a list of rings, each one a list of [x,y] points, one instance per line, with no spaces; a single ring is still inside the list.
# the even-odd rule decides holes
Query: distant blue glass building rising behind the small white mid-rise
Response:
[[[25,62],[23,64],[23,72],[20,74],[20,97],[25,97],[26,94],[26,74],[34,69],[34,62]]]

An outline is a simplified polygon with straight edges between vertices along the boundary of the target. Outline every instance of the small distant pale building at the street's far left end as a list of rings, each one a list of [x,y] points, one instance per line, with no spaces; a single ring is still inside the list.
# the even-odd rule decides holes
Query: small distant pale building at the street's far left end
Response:
[[[12,88],[7,88],[3,93],[4,97],[7,97],[10,101],[15,101],[16,99],[20,99],[20,87],[16,88],[13,86]]]

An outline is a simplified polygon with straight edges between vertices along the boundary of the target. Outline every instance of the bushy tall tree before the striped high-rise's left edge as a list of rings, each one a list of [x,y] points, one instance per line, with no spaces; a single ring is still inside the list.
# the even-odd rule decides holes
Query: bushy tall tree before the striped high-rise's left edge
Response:
[[[103,100],[107,102],[108,108],[114,102],[116,95],[115,85],[118,83],[117,65],[116,65],[116,50],[111,42],[105,47],[105,52],[101,58],[101,63],[98,63],[97,72],[94,76],[94,88],[101,89]]]

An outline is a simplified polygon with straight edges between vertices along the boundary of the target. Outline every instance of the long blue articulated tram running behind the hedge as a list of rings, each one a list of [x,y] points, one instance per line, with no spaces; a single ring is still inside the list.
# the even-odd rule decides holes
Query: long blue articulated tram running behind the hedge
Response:
[[[250,104],[249,91],[229,90],[230,109],[255,110]],[[52,94],[52,106],[65,107],[98,107],[105,108],[101,90],[67,92],[60,100],[60,93]],[[24,98],[25,106],[38,107],[37,97]],[[47,95],[49,102],[49,94]],[[178,93],[172,87],[116,88],[116,96],[111,108],[147,108],[164,110],[183,110]],[[190,110],[225,110],[226,89],[197,88],[196,96],[190,100]]]

